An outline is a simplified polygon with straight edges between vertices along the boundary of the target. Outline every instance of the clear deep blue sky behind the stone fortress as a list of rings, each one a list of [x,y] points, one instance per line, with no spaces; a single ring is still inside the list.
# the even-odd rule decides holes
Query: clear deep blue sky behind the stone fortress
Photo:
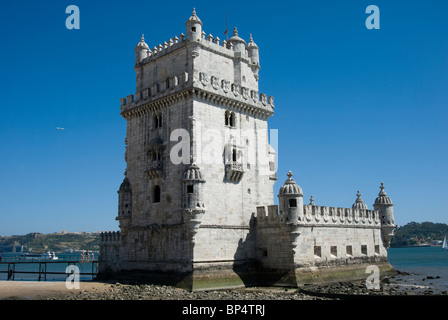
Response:
[[[193,7],[207,34],[225,38],[228,12],[260,47],[275,193],[291,170],[305,203],[351,207],[360,190],[372,208],[384,181],[397,224],[448,223],[448,2],[25,0],[0,10],[0,235],[118,229],[134,47],[185,33]]]

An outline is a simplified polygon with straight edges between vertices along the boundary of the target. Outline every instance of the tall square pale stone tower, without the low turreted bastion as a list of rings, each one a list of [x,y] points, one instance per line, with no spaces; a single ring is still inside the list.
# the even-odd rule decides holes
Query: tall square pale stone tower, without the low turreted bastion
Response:
[[[273,202],[273,98],[258,92],[252,36],[206,35],[195,10],[185,26],[186,36],[152,49],[142,36],[135,47],[136,92],[121,99],[120,234],[104,244],[119,262],[102,268],[177,275],[191,289],[233,286],[235,270],[256,259],[255,208]]]

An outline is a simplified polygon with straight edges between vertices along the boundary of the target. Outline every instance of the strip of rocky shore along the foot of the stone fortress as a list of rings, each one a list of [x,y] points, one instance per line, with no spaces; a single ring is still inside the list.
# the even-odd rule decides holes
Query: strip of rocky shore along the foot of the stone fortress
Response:
[[[445,290],[413,284],[401,275],[384,278],[379,289],[368,289],[365,281],[306,285],[301,288],[242,288],[190,292],[152,284],[110,283],[106,290],[71,290],[47,300],[327,300],[337,295],[448,295]]]

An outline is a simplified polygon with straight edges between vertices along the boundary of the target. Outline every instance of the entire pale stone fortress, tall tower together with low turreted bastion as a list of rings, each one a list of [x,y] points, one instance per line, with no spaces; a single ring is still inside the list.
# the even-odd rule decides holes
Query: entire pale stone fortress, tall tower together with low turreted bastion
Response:
[[[274,205],[274,99],[258,91],[259,48],[236,28],[227,41],[202,26],[193,11],[186,35],[152,49],[142,36],[135,48],[136,92],[121,99],[120,231],[101,234],[100,276],[201,290],[365,279],[372,264],[392,271],[394,212],[383,183],[374,210],[359,192],[351,208],[326,207],[304,204],[288,172]],[[176,129],[188,138],[181,162]],[[205,161],[210,132],[222,144]]]

